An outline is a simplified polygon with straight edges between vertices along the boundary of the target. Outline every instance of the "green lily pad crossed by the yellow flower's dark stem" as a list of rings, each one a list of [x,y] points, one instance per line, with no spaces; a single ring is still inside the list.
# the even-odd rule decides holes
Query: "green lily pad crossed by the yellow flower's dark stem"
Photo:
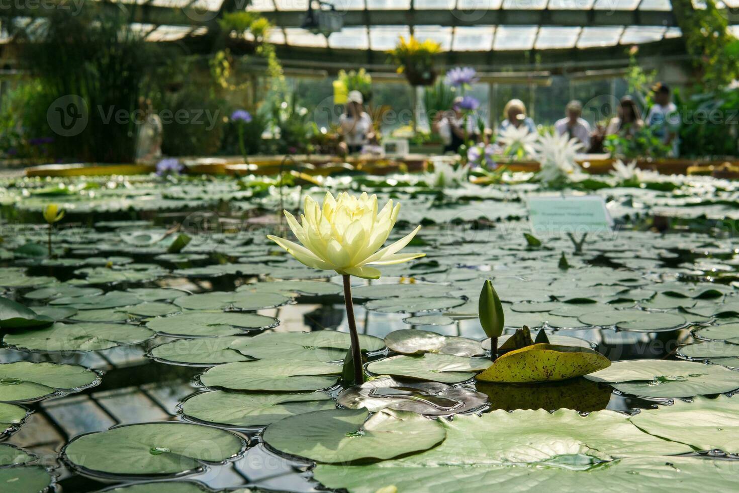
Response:
[[[382,339],[359,334],[359,347],[377,351],[385,347]],[[344,359],[351,345],[350,335],[336,330],[316,332],[264,333],[232,344],[233,349],[257,359],[279,358],[283,361],[304,359],[337,361]]]

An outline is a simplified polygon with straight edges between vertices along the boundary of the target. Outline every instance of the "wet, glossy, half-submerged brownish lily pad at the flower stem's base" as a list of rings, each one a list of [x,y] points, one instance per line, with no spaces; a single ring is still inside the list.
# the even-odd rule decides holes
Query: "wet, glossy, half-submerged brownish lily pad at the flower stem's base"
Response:
[[[487,396],[460,387],[426,381],[401,381],[392,377],[374,378],[338,395],[338,404],[349,409],[365,408],[418,412],[448,416],[471,412],[485,405]]]

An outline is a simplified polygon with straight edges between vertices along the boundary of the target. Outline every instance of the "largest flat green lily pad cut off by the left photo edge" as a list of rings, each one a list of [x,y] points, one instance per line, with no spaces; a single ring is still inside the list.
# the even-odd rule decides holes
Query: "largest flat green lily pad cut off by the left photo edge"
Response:
[[[57,392],[76,392],[98,384],[100,376],[73,364],[0,364],[0,401],[31,402]]]

